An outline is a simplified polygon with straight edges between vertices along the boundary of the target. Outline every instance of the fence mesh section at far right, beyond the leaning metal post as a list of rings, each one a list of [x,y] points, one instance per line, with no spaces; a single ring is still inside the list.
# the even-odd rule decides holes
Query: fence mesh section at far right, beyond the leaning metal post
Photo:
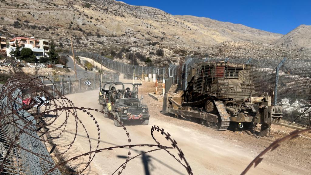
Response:
[[[283,107],[283,120],[302,126],[310,126],[311,119],[310,67],[310,60],[286,60],[278,74],[277,104]]]

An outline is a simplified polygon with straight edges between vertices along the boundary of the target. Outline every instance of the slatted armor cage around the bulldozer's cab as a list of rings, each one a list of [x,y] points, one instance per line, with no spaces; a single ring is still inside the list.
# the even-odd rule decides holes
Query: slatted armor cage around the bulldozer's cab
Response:
[[[250,65],[212,62],[197,64],[195,68],[194,92],[218,99],[257,96]]]

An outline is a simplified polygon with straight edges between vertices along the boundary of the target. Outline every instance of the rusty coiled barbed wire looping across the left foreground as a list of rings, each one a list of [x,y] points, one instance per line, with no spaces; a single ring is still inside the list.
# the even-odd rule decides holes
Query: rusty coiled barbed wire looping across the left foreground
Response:
[[[90,149],[88,152],[69,158],[65,161],[59,162],[58,164],[56,164],[55,166],[53,166],[52,168],[49,168],[46,172],[44,172],[44,174],[49,174],[53,171],[55,171],[57,168],[60,168],[61,166],[66,165],[66,163],[74,161],[78,158],[84,157],[84,156],[88,156],[87,158],[87,162],[86,162],[86,166],[84,168],[82,168],[81,170],[77,171],[77,174],[81,174],[83,171],[86,170],[86,168],[89,167],[91,161],[93,160],[93,158],[95,157],[95,154],[102,152],[102,151],[108,151],[108,150],[112,150],[112,149],[117,149],[117,148],[128,148],[128,156],[125,160],[125,162],[123,164],[121,164],[115,171],[114,173],[116,173],[118,171],[117,174],[121,174],[123,172],[123,170],[126,168],[127,163],[132,160],[135,157],[138,157],[142,154],[146,154],[152,151],[156,151],[156,150],[160,150],[160,149],[165,149],[165,151],[173,156],[184,168],[186,168],[188,174],[193,174],[192,170],[188,164],[188,162],[186,161],[183,152],[181,151],[181,149],[178,148],[177,146],[177,142],[174,139],[170,138],[169,133],[165,133],[164,129],[160,129],[158,126],[153,126],[151,127],[151,135],[153,137],[153,139],[156,141],[157,144],[131,144],[131,138],[130,138],[130,134],[128,133],[126,127],[122,124],[121,121],[118,121],[118,119],[115,116],[111,116],[114,118],[114,120],[117,120],[121,125],[122,128],[125,132],[125,135],[127,137],[127,142],[128,145],[120,145],[120,146],[114,146],[114,147],[108,147],[108,148],[99,148],[100,145],[100,127],[98,125],[98,121],[95,119],[95,117],[91,114],[91,111],[94,112],[100,112],[102,114],[107,114],[104,111],[98,110],[98,109],[92,109],[92,108],[86,108],[86,107],[76,107],[74,106],[73,102],[71,100],[69,100],[68,98],[64,97],[61,95],[60,92],[58,92],[58,90],[55,90],[55,93],[58,95],[58,97],[54,98],[53,94],[50,93],[50,91],[52,90],[49,87],[46,87],[42,84],[42,82],[40,81],[39,78],[46,78],[49,79],[48,77],[44,77],[44,76],[39,76],[39,77],[35,77],[35,78],[31,78],[29,76],[26,75],[16,75],[12,78],[10,78],[2,87],[2,91],[0,93],[0,99],[4,99],[6,98],[6,108],[10,109],[10,112],[5,112],[4,108],[1,109],[1,115],[0,115],[0,131],[4,131],[3,127],[7,126],[7,125],[14,125],[16,128],[19,129],[19,132],[16,133],[16,135],[9,135],[12,133],[8,133],[8,135],[6,135],[6,137],[10,140],[10,144],[9,147],[7,148],[6,153],[4,154],[3,160],[1,162],[1,166],[0,166],[0,173],[4,173],[5,171],[5,162],[9,156],[10,153],[13,152],[14,148],[19,148],[19,149],[23,149],[26,152],[36,155],[38,156],[41,160],[44,160],[46,162],[50,162],[47,159],[47,155],[45,154],[40,154],[40,153],[35,153],[31,148],[26,148],[23,147],[19,144],[17,144],[18,142],[20,142],[20,136],[22,134],[27,134],[30,137],[32,137],[33,139],[37,139],[36,137],[34,137],[31,132],[35,132],[38,135],[44,135],[47,133],[55,133],[56,137],[55,138],[61,138],[63,133],[66,131],[66,127],[68,126],[68,119],[69,116],[73,116],[74,120],[75,120],[75,133],[74,136],[72,138],[72,140],[70,141],[70,143],[67,143],[65,145],[59,145],[56,144],[56,146],[58,147],[64,147],[65,149],[60,152],[59,154],[54,154],[52,155],[52,157],[57,157],[57,156],[64,156],[64,154],[66,154],[73,146],[74,142],[76,141],[77,138],[77,133],[78,133],[78,126],[81,126],[82,130],[85,131],[86,136],[87,136],[87,141],[89,142],[89,146]],[[49,79],[49,81],[51,81]],[[52,83],[52,81],[51,81]],[[14,93],[19,92],[18,95],[14,95]],[[36,96],[41,96],[41,97],[45,97],[46,99],[49,100],[49,103],[46,104],[42,104],[41,107],[39,107],[40,110],[36,111],[34,114],[30,114],[30,115],[21,115],[22,113],[24,113],[24,110],[29,110],[33,107],[35,107],[36,105],[38,105],[38,102],[36,101],[31,101],[31,99],[35,98]],[[25,99],[25,97],[28,97],[27,99],[30,99],[30,103],[29,104],[23,104],[22,99]],[[18,108],[16,108],[17,106],[20,106]],[[15,107],[14,107],[15,106]],[[95,149],[92,148],[92,144],[91,144],[91,139],[90,139],[90,135],[88,133],[88,130],[86,129],[86,126],[83,124],[83,122],[80,120],[80,118],[77,115],[77,111],[82,111],[84,113],[86,113],[91,120],[93,120],[94,125],[96,126],[97,129],[97,139],[96,139],[96,147]],[[48,118],[46,119],[44,117],[44,115],[46,114],[53,114],[55,117],[53,118]],[[61,114],[64,114],[65,116],[65,120],[63,121],[63,123],[61,125],[59,125],[58,127],[56,127],[53,130],[41,130],[42,128],[47,128],[53,124],[55,124],[55,122],[57,120],[59,120],[59,116]],[[17,118],[12,118],[13,115],[16,115]],[[109,115],[109,114],[108,114]],[[27,120],[29,119],[29,117],[33,117],[31,120]],[[21,125],[18,124],[18,122],[22,121],[25,125]],[[37,123],[33,123],[34,121],[39,121]],[[37,129],[36,129],[37,128]],[[154,131],[158,131],[161,132],[162,135],[165,135],[165,138],[169,141],[172,142],[172,146],[173,147],[168,147],[168,146],[163,146],[160,144],[160,142],[158,142],[155,137],[153,136],[153,132]],[[5,133],[5,132],[3,132]],[[48,138],[47,140],[43,139],[43,138],[39,138],[39,141],[41,142],[47,142],[47,141],[51,141],[53,140],[53,138]],[[131,156],[131,149],[132,147],[135,146],[139,146],[139,147],[144,147],[144,146],[148,146],[148,147],[157,147],[158,149],[153,149],[150,151],[146,151],[143,152],[141,154],[138,154],[134,157],[130,157]],[[176,158],[173,154],[171,154],[168,149],[177,149],[177,151],[179,152],[179,157],[181,158],[181,160],[179,160],[178,158]],[[185,165],[182,163],[182,161],[185,162]],[[114,174],[112,173],[112,174]]]

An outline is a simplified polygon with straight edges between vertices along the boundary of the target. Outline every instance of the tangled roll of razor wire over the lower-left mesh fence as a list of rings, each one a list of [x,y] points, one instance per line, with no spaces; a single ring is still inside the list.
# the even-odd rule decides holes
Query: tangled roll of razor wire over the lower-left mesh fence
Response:
[[[25,171],[27,167],[23,164],[23,162],[36,161],[37,163],[44,162],[44,164],[42,165],[39,164],[44,168],[33,169],[31,170],[30,174],[49,174],[52,172],[55,174],[59,174],[60,173],[59,169],[62,169],[64,171],[64,168],[62,168],[62,166],[65,166],[67,163],[70,164],[72,161],[75,161],[79,158],[87,157],[87,160],[84,162],[86,166],[75,172],[77,174],[81,174],[89,167],[91,161],[93,161],[93,158],[97,153],[117,148],[128,148],[128,156],[125,162],[121,164],[121,166],[118,167],[114,173],[118,171],[118,174],[121,174],[123,170],[126,168],[127,163],[139,155],[160,149],[165,149],[169,155],[171,155],[179,163],[181,163],[181,165],[186,169],[188,174],[193,174],[188,162],[185,159],[183,152],[181,151],[181,149],[178,148],[177,142],[174,139],[171,139],[170,135],[168,133],[166,134],[163,129],[159,129],[159,127],[153,126],[151,128],[152,137],[155,139],[155,137],[152,134],[154,131],[161,132],[162,135],[165,135],[165,138],[167,140],[172,142],[171,145],[173,147],[171,147],[171,145],[170,147],[164,146],[160,144],[156,139],[155,139],[156,144],[131,144],[130,134],[128,133],[126,127],[123,126],[122,122],[118,121],[122,125],[124,135],[126,136],[125,141],[128,142],[128,144],[109,148],[100,148],[100,128],[98,121],[91,114],[91,112],[100,112],[103,114],[105,112],[87,107],[76,107],[74,106],[71,100],[64,97],[62,93],[59,92],[56,88],[54,89],[53,92],[56,93],[57,95],[56,97],[54,97],[53,93],[51,93],[52,89],[50,87],[45,86],[42,83],[42,78],[49,79],[48,77],[42,76],[32,78],[27,75],[15,75],[11,77],[2,87],[2,91],[0,94],[1,99],[0,131],[2,132],[2,135],[4,135],[5,138],[7,138],[8,144],[5,145],[4,147],[5,150],[3,150],[2,152],[3,159],[0,161],[1,173]],[[46,99],[49,102],[42,103],[41,101],[39,102],[38,100],[35,100],[38,99],[39,97],[44,97],[40,99]],[[35,109],[35,111],[33,111],[32,114],[27,112],[33,110],[34,108],[37,109]],[[98,138],[95,141],[96,142],[95,148],[91,146],[92,142],[88,134],[89,130],[86,129],[86,126],[81,121],[80,116],[78,116],[77,114],[77,111],[83,111],[87,116],[90,117],[90,120],[94,122],[94,126],[96,128],[95,130],[97,130],[98,135]],[[53,115],[54,117],[46,117],[46,115]],[[56,121],[61,120],[59,117],[60,115],[65,116],[65,119],[61,125],[59,125],[53,130],[42,130],[42,128],[49,128],[50,126],[55,124]],[[61,138],[63,134],[68,130],[67,126],[69,125],[68,120],[70,117],[73,117],[75,121],[74,122],[75,133],[72,140],[67,142],[65,145],[57,144],[57,142],[54,142],[54,145],[63,148],[59,154],[54,154],[50,156],[49,154],[43,154],[42,151],[39,152],[34,151],[37,149],[37,147],[39,146],[38,144],[40,143],[51,142],[53,141],[53,139]],[[118,120],[115,117],[114,119]],[[7,132],[6,127],[8,126],[14,128],[13,129],[14,132]],[[72,149],[72,146],[77,139],[78,130],[85,131],[87,141],[89,142],[88,144],[90,146],[89,152],[71,158],[67,158],[61,162],[54,163],[51,157],[53,158],[60,155],[69,154],[69,150]],[[47,138],[47,140],[45,140],[41,136],[46,133],[56,135],[56,137]],[[40,137],[38,137],[38,135],[40,135]],[[22,139],[25,136],[30,137],[30,139],[34,140],[34,142],[32,144],[28,142],[26,143],[25,140]],[[157,147],[158,149],[146,151],[142,154],[139,154],[131,158],[130,157],[131,149],[132,147],[135,146]],[[176,149],[179,152],[180,160],[176,158],[172,153],[170,153],[168,149]],[[19,153],[21,152],[20,150],[22,150],[23,152],[25,152],[25,154],[29,156],[35,157],[34,160],[28,159],[25,160],[26,157],[19,155]],[[12,161],[13,154],[16,155],[16,161],[12,162],[14,166],[8,164],[8,162]],[[29,164],[30,163],[28,163],[28,165]]]

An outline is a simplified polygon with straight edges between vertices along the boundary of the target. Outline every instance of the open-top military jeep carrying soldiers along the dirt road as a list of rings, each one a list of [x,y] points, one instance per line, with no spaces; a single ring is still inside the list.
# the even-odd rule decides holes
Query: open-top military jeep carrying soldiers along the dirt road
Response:
[[[118,85],[122,89],[116,89]],[[132,86],[131,97],[128,97],[125,86]],[[141,83],[105,83],[99,92],[99,103],[103,105],[104,117],[109,115],[115,116],[123,123],[125,120],[141,120],[142,125],[149,123],[149,111],[146,105],[142,105],[141,99],[138,98],[138,86]],[[115,92],[114,92],[115,91]],[[114,119],[115,126],[121,124]]]

